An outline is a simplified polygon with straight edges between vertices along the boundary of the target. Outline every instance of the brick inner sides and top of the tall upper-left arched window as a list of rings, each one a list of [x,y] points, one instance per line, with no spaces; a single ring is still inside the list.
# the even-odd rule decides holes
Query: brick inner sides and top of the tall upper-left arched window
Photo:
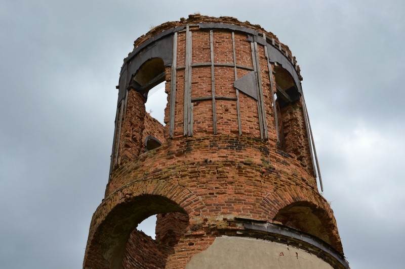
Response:
[[[165,142],[164,127],[146,112],[145,107],[149,91],[153,91],[155,86],[166,82],[171,76],[170,68],[165,66],[165,60],[158,56],[144,56],[138,59],[139,62],[134,63],[137,68],[131,69],[129,86],[123,95],[124,105],[120,110],[122,125],[117,124],[115,127],[117,138],[114,139],[114,145],[119,142],[116,155],[119,152],[120,157],[117,158],[118,162],[114,169],[117,168],[117,164],[130,162],[145,151],[144,143],[147,135],[152,134],[160,138],[160,142]],[[160,110],[163,111],[165,107],[168,109],[168,102]]]

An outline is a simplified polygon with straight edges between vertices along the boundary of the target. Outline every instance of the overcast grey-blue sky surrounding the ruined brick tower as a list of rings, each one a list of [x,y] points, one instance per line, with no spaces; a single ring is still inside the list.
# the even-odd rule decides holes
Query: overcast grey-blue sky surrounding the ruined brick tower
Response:
[[[404,268],[403,0],[0,0],[0,267],[82,267],[123,59],[194,12],[291,48],[351,268]]]

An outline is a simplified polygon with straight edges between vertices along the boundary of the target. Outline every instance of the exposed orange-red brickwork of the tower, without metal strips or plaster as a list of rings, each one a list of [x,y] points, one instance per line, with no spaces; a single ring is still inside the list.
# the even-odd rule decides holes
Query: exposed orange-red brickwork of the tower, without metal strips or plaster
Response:
[[[274,109],[271,90],[278,96],[276,83],[284,82],[276,77],[277,64],[269,64],[265,46],[257,44],[255,61],[245,32],[203,29],[199,23],[228,23],[264,33],[280,44],[296,66],[289,48],[272,33],[230,17],[194,15],[160,25],[138,38],[135,48],[165,30],[189,26],[177,33],[175,77],[171,66],[164,68],[165,126],[146,113],[146,99],[136,88],[129,87],[126,98],[118,100],[111,175],[105,199],[92,219],[84,268],[184,268],[216,236],[244,230],[238,219],[301,230],[343,255],[333,211],[314,178],[302,100],[283,107],[277,103]],[[261,88],[262,106],[234,87],[236,79],[252,70],[260,71],[256,76],[260,85],[255,87]],[[299,74],[297,66],[296,70]],[[189,99],[185,95],[187,72]],[[173,115],[171,94],[175,94]],[[188,101],[192,135],[184,135]],[[174,119],[173,137],[170,117]],[[162,145],[145,149],[148,136]],[[136,230],[152,214],[158,214],[156,240]]]

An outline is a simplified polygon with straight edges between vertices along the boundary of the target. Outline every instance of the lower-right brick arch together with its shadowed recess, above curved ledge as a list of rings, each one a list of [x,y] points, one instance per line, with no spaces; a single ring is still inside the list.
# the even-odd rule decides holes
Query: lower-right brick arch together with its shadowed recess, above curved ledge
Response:
[[[333,211],[313,190],[298,186],[282,188],[266,195],[259,207],[273,221],[316,236],[343,253]]]

